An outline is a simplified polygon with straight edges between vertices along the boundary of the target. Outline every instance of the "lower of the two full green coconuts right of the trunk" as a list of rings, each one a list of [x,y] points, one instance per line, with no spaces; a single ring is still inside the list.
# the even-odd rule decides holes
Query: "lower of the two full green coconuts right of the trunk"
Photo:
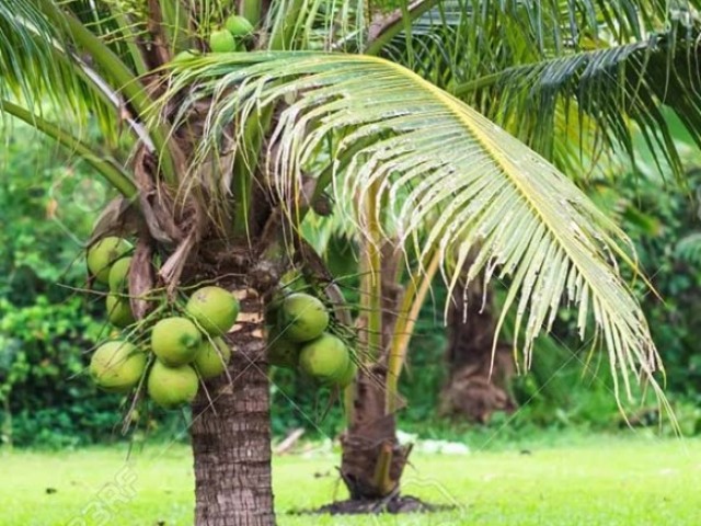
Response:
[[[332,385],[342,379],[348,362],[346,344],[329,333],[306,343],[299,352],[299,368],[321,385]]]

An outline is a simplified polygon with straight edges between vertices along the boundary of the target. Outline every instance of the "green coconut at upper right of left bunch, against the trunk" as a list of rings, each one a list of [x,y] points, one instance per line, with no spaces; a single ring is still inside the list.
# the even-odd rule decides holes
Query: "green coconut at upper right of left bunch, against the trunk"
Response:
[[[203,287],[187,300],[185,310],[211,336],[220,336],[233,327],[239,300],[221,287]]]

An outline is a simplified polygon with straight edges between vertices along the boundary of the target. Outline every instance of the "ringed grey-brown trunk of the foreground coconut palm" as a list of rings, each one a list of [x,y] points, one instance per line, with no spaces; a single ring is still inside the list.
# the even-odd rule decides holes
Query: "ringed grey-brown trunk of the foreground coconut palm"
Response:
[[[193,403],[197,526],[275,524],[263,302],[252,289],[240,297],[231,381],[216,379]]]

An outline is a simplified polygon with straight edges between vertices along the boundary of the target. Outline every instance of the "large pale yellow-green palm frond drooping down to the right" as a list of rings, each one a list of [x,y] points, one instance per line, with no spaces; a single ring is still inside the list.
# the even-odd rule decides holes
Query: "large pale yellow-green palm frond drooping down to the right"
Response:
[[[613,254],[632,263],[619,244],[628,243],[624,235],[549,162],[458,99],[379,58],[302,53],[206,57],[176,69],[172,93],[183,92],[184,112],[210,101],[200,159],[232,123],[287,101],[267,152],[284,203],[294,203],[329,141],[331,159],[353,151],[347,169],[334,170],[336,199],[377,199],[381,217],[359,206],[338,213],[359,232],[389,218],[393,231],[382,233],[414,243],[422,259],[438,250],[450,288],[450,268],[476,248],[469,281],[479,272],[509,276],[505,311],[516,307],[527,363],[564,295],[577,305],[583,338],[593,315],[627,391],[631,371],[657,388],[659,357],[639,304],[611,266]],[[371,188],[378,192],[368,196]]]

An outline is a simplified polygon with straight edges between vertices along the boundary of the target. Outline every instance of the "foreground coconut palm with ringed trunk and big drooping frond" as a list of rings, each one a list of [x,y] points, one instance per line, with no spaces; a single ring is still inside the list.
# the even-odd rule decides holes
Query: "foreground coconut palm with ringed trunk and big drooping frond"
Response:
[[[535,7],[541,3],[495,2],[512,5],[503,9],[514,27],[531,15],[552,30],[531,34],[526,24],[504,34],[495,55],[552,36],[551,15],[561,8],[577,18],[558,27],[559,45],[571,45],[564,35],[579,30],[579,11],[589,27],[601,12],[600,2]],[[617,3],[620,27],[609,25],[621,33],[633,25],[624,7],[650,8],[641,12],[651,20],[667,13],[660,2]],[[193,403],[197,524],[274,524],[264,304],[290,265],[317,266],[299,233],[312,213],[332,211],[361,232],[364,359],[382,346],[382,247],[415,262],[407,305],[437,272],[455,288],[457,268],[476,248],[466,283],[481,271],[487,281],[495,272],[510,276],[505,308],[516,307],[527,362],[565,295],[577,306],[583,336],[591,319],[617,388],[630,392],[637,379],[659,392],[659,356],[616,268],[617,261],[634,265],[625,236],[553,164],[461,100],[479,93],[481,108],[495,93],[499,108],[510,100],[498,76],[473,85],[472,71],[453,60],[463,35],[483,37],[478,25],[461,23],[440,41],[433,35],[446,24],[433,24],[428,34],[439,46],[421,44],[429,54],[417,53],[412,21],[435,5],[382,13],[342,0],[0,0],[0,107],[84,158],[122,194],[95,237],[137,236],[128,279],[136,317],[147,315],[142,297],[156,286],[175,297],[180,287],[216,282],[241,301],[230,378],[210,382]],[[482,3],[468,2],[462,12],[474,18],[475,5]],[[241,20],[232,27],[237,38],[220,32],[234,11],[253,33]],[[379,56],[389,56],[402,30],[407,45],[399,53],[410,68]],[[547,48],[537,49],[545,60]],[[445,60],[430,71],[440,77],[422,76],[436,53]],[[644,121],[653,102],[631,106],[648,130],[660,126]],[[605,138],[625,137],[606,121],[607,107],[596,107],[609,125]],[[99,144],[82,133],[92,125],[102,130]],[[402,319],[395,336],[411,325],[411,316]],[[399,356],[405,338],[394,341]],[[388,365],[390,391],[395,366]],[[382,408],[392,415],[394,400]],[[378,480],[391,471],[386,460],[375,462]]]

